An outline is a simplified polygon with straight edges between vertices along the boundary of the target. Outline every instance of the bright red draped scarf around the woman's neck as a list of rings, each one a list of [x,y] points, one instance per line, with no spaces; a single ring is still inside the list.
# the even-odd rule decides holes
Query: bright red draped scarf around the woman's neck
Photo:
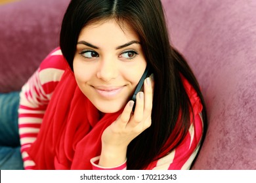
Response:
[[[99,119],[97,108],[67,69],[54,90],[37,140],[28,150],[35,169],[92,169],[90,159],[100,156],[101,135],[121,111]]]

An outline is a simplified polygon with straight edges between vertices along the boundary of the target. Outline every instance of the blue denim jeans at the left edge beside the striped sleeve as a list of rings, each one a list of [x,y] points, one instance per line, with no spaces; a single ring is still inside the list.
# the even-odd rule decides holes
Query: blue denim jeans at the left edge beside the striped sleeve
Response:
[[[18,134],[19,92],[0,93],[0,169],[20,170],[23,161]]]

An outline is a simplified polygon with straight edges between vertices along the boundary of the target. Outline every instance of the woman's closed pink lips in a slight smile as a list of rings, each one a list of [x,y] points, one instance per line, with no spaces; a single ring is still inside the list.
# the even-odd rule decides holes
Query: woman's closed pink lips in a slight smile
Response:
[[[93,86],[98,94],[102,97],[115,97],[118,93],[121,92],[123,86],[121,87],[104,87],[104,86]]]

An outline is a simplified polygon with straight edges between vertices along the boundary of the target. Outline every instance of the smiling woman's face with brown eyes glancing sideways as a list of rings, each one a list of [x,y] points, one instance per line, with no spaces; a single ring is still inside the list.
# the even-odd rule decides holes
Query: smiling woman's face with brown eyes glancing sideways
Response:
[[[115,20],[89,24],[81,30],[74,57],[80,90],[105,113],[123,108],[146,68],[137,34]]]

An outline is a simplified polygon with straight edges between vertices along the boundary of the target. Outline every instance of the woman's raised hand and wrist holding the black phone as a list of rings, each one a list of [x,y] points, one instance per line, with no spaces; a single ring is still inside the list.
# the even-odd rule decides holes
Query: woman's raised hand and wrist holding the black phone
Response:
[[[134,114],[132,112],[134,102],[129,101],[119,118],[104,130],[100,166],[114,167],[123,163],[129,143],[150,127],[153,88],[151,78],[146,78],[144,92],[137,94]]]

